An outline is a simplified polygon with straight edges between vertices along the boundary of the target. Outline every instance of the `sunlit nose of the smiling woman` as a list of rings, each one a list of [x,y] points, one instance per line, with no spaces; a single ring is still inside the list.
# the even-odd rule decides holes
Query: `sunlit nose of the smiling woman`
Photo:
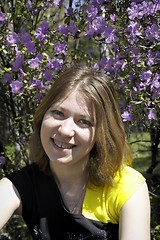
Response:
[[[65,137],[73,137],[75,134],[75,123],[74,120],[70,117],[61,121],[61,124],[58,128],[58,132]]]

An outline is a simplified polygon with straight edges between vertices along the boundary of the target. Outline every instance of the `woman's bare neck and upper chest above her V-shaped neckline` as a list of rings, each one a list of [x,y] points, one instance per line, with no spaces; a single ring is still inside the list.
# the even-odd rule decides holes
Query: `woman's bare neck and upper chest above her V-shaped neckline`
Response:
[[[60,169],[55,166],[51,166],[51,169],[64,204],[71,213],[80,214],[88,183],[87,167],[62,165]]]

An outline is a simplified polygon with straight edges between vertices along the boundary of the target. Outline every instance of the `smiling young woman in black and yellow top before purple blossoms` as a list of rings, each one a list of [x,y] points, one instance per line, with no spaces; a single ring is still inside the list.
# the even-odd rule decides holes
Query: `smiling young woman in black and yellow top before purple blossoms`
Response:
[[[110,79],[66,70],[34,117],[31,164],[0,182],[0,227],[22,214],[33,239],[150,240],[144,177]]]

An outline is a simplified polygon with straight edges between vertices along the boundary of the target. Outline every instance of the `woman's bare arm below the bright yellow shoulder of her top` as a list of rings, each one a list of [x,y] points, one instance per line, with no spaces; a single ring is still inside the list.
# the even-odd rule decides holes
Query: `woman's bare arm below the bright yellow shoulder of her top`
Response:
[[[124,204],[120,214],[119,240],[150,240],[150,201],[144,183]]]

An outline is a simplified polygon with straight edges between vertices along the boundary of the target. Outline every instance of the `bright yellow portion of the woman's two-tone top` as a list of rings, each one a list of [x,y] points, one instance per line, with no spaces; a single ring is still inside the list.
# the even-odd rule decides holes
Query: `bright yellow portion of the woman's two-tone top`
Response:
[[[82,214],[88,219],[117,224],[122,206],[144,182],[142,174],[124,167],[121,176],[115,177],[114,186],[87,188]]]

